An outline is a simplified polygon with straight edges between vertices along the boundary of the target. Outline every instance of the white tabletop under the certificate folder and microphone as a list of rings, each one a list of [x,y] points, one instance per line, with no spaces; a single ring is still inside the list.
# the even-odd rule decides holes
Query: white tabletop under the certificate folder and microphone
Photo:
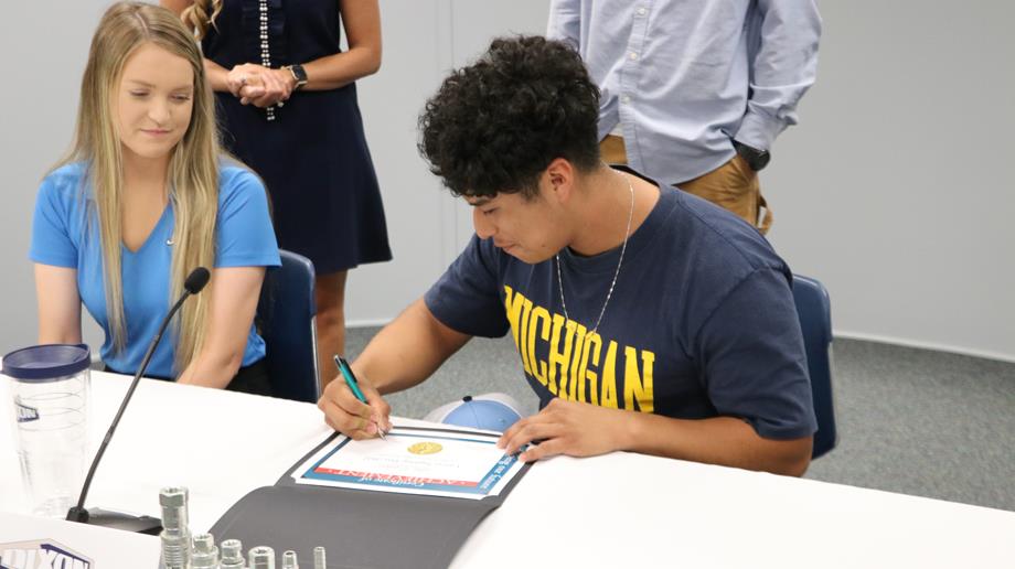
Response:
[[[98,441],[129,378],[92,383]],[[313,405],[143,380],[87,505],[159,516],[159,489],[185,485],[191,529],[206,530],[329,432]],[[0,509],[28,509],[9,427]],[[0,543],[3,533],[0,518]],[[555,458],[532,468],[452,567],[530,565],[1015,567],[1015,513],[630,453]]]

